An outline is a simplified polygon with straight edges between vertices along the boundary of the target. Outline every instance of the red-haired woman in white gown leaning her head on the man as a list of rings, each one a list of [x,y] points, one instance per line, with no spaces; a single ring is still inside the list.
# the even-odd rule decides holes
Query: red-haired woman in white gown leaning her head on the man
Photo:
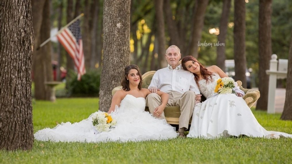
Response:
[[[194,107],[187,137],[215,138],[240,135],[267,138],[292,137],[287,133],[265,130],[243,98],[239,97],[243,96],[244,92],[233,80],[233,91],[221,87],[222,93],[219,94],[218,83],[221,85],[220,79],[223,83],[224,80],[228,80],[224,77],[228,76],[218,66],[206,68],[192,56],[184,57],[182,66],[194,74],[201,94],[206,97],[204,102]]]

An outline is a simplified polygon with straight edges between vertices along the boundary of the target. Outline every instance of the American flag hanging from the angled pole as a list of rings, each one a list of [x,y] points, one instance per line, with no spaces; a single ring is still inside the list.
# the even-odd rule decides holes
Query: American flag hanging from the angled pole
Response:
[[[82,46],[80,20],[75,21],[70,26],[62,30],[57,35],[59,42],[64,46],[70,57],[74,60],[78,72],[78,80],[85,74],[84,53]]]

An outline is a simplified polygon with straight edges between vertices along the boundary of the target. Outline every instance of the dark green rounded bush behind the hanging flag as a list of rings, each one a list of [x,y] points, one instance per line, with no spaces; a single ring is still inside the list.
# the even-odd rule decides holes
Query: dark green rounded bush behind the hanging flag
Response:
[[[100,73],[96,70],[88,70],[77,80],[77,74],[69,72],[72,77],[68,81],[69,96],[99,96]]]

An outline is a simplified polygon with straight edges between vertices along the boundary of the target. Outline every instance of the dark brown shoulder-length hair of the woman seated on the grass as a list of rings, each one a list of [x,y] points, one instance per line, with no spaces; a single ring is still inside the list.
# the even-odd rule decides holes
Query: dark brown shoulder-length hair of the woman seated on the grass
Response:
[[[130,84],[129,84],[129,80],[127,80],[127,76],[128,76],[128,74],[129,74],[131,69],[135,69],[135,70],[138,71],[138,74],[139,74],[139,77],[140,77],[140,82],[138,84],[138,89],[141,90],[142,89],[142,75],[141,75],[139,67],[134,65],[134,64],[131,64],[131,65],[125,67],[124,75],[123,75],[122,80],[121,80],[121,85],[123,87],[123,90],[124,91],[130,91]]]

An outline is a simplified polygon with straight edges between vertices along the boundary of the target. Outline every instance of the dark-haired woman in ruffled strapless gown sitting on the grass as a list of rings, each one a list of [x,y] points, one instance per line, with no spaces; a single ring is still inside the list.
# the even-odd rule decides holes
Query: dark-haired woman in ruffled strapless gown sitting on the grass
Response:
[[[130,65],[125,68],[125,78],[122,80],[123,89],[118,91],[112,99],[111,113],[116,119],[117,125],[109,132],[99,133],[92,124],[91,114],[87,119],[78,123],[70,122],[57,125],[55,128],[45,128],[34,134],[36,140],[42,141],[73,141],[73,142],[107,142],[107,141],[144,141],[144,140],[165,140],[174,138],[178,134],[175,128],[167,124],[165,119],[156,119],[145,112],[145,97],[150,94],[148,89],[141,88],[141,74],[139,68]],[[124,83],[123,83],[124,82]],[[140,86],[140,87],[139,87]],[[167,103],[168,95],[158,92],[161,95],[163,104],[157,107],[155,114],[163,112],[163,105]],[[135,96],[133,96],[135,95]],[[119,105],[119,107],[118,107]]]

